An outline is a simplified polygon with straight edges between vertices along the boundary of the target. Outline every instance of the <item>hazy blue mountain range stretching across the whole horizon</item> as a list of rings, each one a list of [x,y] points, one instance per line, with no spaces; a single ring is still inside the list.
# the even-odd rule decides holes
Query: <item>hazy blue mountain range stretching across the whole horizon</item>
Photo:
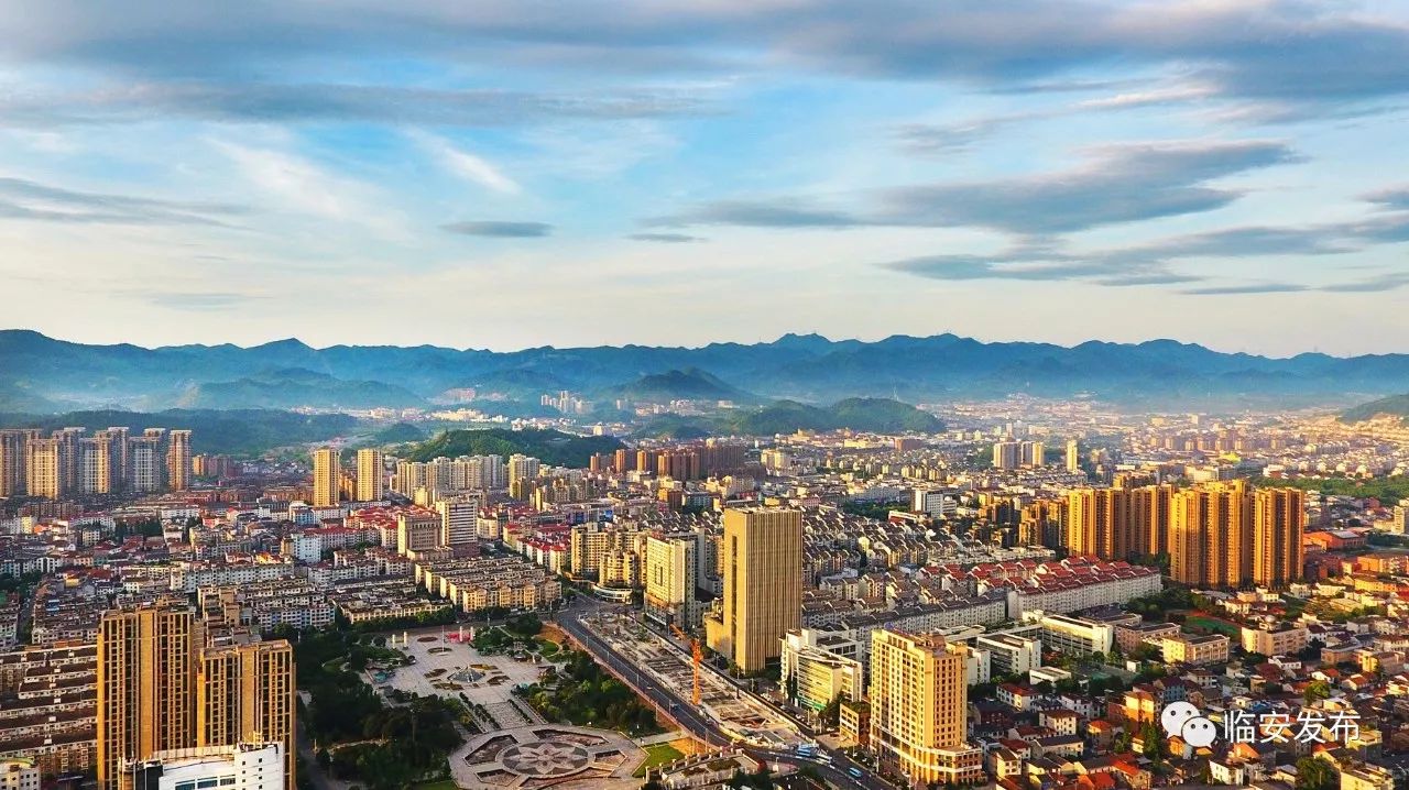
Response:
[[[702,348],[528,348],[514,352],[440,346],[310,348],[283,339],[235,345],[85,345],[38,332],[0,331],[0,410],[366,408],[423,406],[448,390],[537,403],[568,389],[590,399],[847,397],[910,403],[1091,396],[1161,406],[1351,404],[1409,391],[1409,355],[1277,359],[1223,353],[1175,341],[981,342],[955,335],[896,335],[876,342],[783,335],[774,342]]]

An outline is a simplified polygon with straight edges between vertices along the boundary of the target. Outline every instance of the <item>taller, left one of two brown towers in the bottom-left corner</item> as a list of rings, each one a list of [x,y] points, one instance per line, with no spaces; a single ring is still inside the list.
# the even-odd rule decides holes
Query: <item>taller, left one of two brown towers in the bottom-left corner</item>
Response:
[[[103,614],[97,639],[97,784],[117,790],[128,760],[196,745],[199,624],[185,603]]]

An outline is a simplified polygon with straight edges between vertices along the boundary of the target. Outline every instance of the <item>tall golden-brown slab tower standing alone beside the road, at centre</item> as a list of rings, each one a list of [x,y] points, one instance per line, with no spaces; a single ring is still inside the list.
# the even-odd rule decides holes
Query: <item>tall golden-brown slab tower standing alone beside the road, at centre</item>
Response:
[[[721,552],[723,618],[710,646],[743,672],[758,672],[802,624],[802,511],[726,510]]]

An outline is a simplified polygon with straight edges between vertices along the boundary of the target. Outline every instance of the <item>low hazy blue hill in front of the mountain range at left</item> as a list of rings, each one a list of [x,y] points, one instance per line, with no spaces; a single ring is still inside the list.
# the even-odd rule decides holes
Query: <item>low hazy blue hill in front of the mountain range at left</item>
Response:
[[[345,382],[327,373],[287,368],[271,373],[192,384],[176,400],[183,408],[376,408],[414,407],[424,400],[413,391],[382,382]]]

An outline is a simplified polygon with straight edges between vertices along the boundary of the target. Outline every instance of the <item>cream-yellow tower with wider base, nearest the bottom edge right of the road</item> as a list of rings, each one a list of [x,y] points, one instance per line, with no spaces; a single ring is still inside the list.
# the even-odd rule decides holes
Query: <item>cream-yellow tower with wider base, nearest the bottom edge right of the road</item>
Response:
[[[962,645],[938,634],[871,632],[871,749],[914,786],[982,773],[967,745],[968,684]]]

